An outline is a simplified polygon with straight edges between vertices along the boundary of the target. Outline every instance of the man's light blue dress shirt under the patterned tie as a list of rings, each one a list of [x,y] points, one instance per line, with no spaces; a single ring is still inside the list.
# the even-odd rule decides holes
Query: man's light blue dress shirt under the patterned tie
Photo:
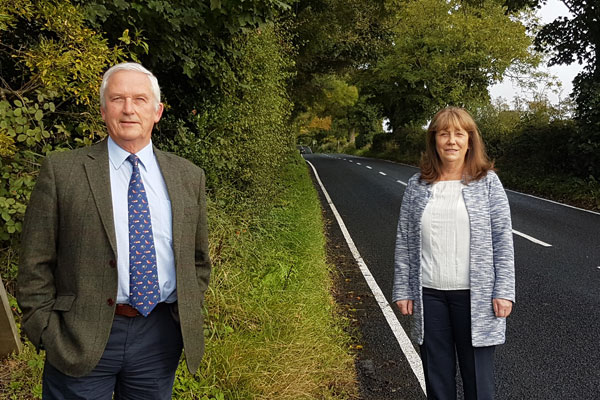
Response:
[[[108,158],[110,159],[110,189],[112,194],[113,217],[117,237],[117,268],[119,290],[117,303],[129,303],[129,215],[127,191],[133,167],[127,157],[130,153],[122,149],[112,138],[108,138]],[[160,172],[156,156],[150,142],[136,155],[139,158],[140,175],[146,189],[152,234],[156,251],[156,267],[160,286],[160,301],[171,303],[177,300],[175,256],[173,254],[173,224],[171,202],[167,185]]]

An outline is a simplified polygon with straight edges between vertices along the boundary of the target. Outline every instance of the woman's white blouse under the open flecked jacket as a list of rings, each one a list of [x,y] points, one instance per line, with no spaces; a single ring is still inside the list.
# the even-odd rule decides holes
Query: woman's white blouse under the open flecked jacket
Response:
[[[461,181],[439,181],[421,219],[422,285],[438,290],[470,289],[469,215]]]

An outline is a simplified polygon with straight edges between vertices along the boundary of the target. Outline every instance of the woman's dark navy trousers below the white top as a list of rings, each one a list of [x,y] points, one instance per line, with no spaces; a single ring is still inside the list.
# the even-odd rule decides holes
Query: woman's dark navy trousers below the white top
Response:
[[[421,359],[427,398],[456,399],[458,355],[465,400],[493,400],[495,346],[471,344],[470,291],[423,288],[423,317]]]

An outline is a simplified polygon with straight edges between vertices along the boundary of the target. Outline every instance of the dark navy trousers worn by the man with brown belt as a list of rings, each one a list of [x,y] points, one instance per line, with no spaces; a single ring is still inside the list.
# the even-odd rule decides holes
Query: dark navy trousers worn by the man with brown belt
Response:
[[[80,378],[46,361],[44,400],[170,400],[183,341],[171,305],[144,318],[115,315],[108,343],[94,370]]]

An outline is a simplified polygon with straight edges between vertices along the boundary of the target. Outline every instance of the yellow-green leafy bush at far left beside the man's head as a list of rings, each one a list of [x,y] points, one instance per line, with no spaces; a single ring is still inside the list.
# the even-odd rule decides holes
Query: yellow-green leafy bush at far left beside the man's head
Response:
[[[124,57],[68,0],[0,2],[0,274],[16,276],[21,224],[41,159],[104,136],[98,88]]]

